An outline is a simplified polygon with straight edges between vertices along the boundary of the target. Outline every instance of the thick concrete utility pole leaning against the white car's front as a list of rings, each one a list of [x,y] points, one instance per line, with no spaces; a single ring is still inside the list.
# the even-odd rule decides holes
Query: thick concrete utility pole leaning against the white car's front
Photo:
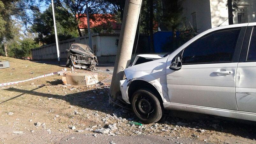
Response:
[[[142,0],[126,0],[123,14],[118,50],[115,59],[113,78],[110,87],[110,96],[117,99],[119,81],[123,79],[123,70],[129,65],[140,15]]]

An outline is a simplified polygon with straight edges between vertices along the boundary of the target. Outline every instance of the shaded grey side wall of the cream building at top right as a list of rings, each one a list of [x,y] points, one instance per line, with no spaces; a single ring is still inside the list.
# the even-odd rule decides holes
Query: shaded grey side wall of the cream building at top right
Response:
[[[183,6],[182,18],[186,17],[187,25],[192,25],[192,13],[196,13],[197,32],[211,28],[211,11],[209,0],[180,0]]]

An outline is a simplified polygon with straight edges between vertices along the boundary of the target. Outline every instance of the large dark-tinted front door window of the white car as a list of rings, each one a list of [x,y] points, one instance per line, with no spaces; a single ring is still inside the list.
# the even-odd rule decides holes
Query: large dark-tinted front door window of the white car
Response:
[[[184,49],[182,64],[231,62],[240,28],[212,32]]]

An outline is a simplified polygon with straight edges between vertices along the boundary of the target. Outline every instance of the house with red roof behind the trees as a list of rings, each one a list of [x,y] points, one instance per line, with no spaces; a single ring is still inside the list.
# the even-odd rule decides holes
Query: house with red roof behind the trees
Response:
[[[84,36],[87,33],[87,17],[80,18],[79,28]],[[90,28],[94,33],[120,33],[121,24],[114,20],[112,14],[92,14],[90,15]],[[111,31],[111,32],[109,32]]]

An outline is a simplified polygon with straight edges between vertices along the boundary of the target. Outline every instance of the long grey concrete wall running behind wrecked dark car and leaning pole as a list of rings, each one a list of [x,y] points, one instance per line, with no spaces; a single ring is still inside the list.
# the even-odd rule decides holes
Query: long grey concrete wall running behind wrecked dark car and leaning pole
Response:
[[[117,42],[119,34],[92,34],[92,47],[91,49],[96,54],[99,62],[115,62],[115,56],[117,53]],[[59,42],[60,58],[62,60],[67,59],[65,49],[69,49],[71,43],[88,44],[88,35],[78,37],[74,39],[64,40]],[[137,38],[135,40],[137,42]],[[134,44],[136,47],[136,43]],[[135,49],[135,48],[134,48]],[[136,54],[148,52],[148,35],[140,35],[139,43]],[[33,60],[52,60],[57,59],[56,44],[49,44],[32,49]]]

